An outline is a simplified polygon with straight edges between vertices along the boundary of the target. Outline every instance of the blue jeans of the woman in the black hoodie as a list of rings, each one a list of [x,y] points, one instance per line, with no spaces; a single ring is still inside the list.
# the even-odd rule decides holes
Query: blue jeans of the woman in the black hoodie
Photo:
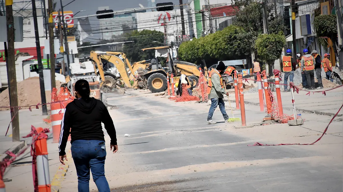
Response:
[[[110,192],[105,178],[105,142],[99,140],[75,140],[71,155],[78,175],[79,192],[89,192],[90,169],[99,192]]]

